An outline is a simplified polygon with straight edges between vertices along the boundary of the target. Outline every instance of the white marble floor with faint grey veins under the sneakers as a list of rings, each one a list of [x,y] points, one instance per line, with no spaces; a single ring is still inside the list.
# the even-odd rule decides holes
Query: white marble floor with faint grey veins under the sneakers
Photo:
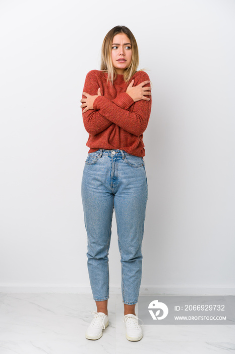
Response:
[[[103,336],[88,340],[91,311],[91,294],[0,293],[0,353],[235,353],[235,325],[143,325],[142,340],[128,341],[118,294],[110,294]]]

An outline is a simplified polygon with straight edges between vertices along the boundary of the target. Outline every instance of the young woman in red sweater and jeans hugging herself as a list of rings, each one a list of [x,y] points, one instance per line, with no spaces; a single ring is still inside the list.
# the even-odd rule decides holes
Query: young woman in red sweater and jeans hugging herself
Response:
[[[148,75],[137,71],[136,39],[116,26],[105,36],[101,70],[88,72],[81,108],[90,148],[82,178],[82,201],[88,237],[88,273],[97,312],[86,331],[99,339],[108,325],[108,250],[115,210],[122,264],[126,337],[143,337],[135,314],[142,275],[141,243],[147,202],[143,132],[151,111]]]

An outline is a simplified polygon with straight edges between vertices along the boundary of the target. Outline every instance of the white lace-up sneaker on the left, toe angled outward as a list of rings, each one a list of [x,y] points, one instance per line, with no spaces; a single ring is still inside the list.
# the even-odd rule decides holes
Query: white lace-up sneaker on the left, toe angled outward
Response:
[[[102,337],[103,329],[108,326],[108,315],[96,311],[92,311],[91,313],[95,315],[87,328],[86,338],[95,340]]]

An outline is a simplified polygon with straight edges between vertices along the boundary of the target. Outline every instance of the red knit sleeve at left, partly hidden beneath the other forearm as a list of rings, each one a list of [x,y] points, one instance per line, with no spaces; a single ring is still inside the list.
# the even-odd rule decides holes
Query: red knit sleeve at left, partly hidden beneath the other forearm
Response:
[[[97,76],[95,75],[95,70],[91,70],[86,75],[83,92],[95,96],[97,95],[98,89],[99,82]],[[82,95],[82,98],[86,97]],[[112,124],[112,121],[105,118],[100,111],[95,109],[89,109],[85,113],[82,113],[82,117],[86,131],[92,135],[99,134],[101,131],[105,130],[107,127],[109,127],[109,125]]]

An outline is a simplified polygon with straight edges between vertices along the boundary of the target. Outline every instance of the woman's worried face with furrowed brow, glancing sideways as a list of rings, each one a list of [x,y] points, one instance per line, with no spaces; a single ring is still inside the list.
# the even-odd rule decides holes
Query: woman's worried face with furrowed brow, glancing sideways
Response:
[[[112,40],[112,65],[118,74],[124,74],[132,60],[131,41],[125,33],[116,34]]]

